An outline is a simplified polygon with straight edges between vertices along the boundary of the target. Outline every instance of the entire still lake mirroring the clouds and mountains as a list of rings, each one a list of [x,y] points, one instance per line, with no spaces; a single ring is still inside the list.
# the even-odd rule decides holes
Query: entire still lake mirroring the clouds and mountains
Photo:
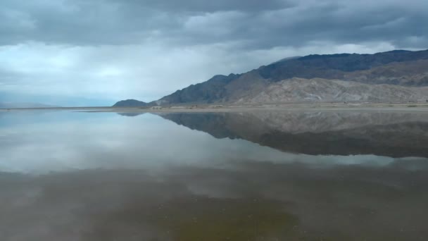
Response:
[[[428,114],[0,112],[0,240],[427,240]]]

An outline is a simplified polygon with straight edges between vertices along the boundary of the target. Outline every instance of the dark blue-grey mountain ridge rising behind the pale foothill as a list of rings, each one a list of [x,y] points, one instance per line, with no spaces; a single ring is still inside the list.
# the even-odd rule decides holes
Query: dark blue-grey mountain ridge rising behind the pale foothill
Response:
[[[166,95],[147,106],[170,104],[235,103],[251,101],[277,82],[300,78],[358,82],[365,85],[394,85],[398,94],[407,87],[428,86],[428,50],[393,50],[376,54],[312,54],[303,57],[283,58],[267,66],[241,74],[215,75],[196,85],[189,85]],[[403,88],[401,88],[403,87]],[[389,89],[394,89],[388,87]],[[361,87],[361,89],[364,89]],[[327,92],[329,89],[320,89]],[[363,96],[365,93],[359,93]],[[424,94],[422,94],[424,95]],[[393,98],[393,99],[390,99]],[[416,101],[411,98],[394,99],[394,94],[380,97],[382,101]],[[423,99],[424,97],[421,97]],[[270,99],[270,98],[267,98]],[[291,101],[284,97],[279,102]],[[301,100],[294,100],[301,101]],[[315,101],[315,100],[314,100]],[[335,99],[334,101],[346,101]]]

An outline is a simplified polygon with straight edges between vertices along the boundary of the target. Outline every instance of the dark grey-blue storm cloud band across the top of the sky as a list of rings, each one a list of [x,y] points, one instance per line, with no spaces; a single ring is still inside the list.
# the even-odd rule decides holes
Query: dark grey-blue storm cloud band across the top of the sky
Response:
[[[326,41],[423,48],[428,42],[426,9],[424,0],[6,0],[0,10],[0,44],[239,42],[241,47],[266,49]]]

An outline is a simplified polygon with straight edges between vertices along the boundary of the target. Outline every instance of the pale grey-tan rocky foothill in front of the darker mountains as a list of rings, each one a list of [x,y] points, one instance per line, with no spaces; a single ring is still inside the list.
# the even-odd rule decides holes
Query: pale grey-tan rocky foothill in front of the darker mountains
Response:
[[[251,92],[237,103],[281,103],[303,101],[427,101],[428,87],[402,87],[398,85],[368,85],[354,81],[320,78],[291,78],[275,82],[261,92]]]

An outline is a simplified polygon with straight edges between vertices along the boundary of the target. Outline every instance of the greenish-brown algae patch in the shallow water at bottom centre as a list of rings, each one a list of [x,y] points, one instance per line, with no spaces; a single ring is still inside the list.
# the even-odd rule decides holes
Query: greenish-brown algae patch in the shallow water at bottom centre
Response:
[[[289,237],[297,218],[282,205],[263,199],[194,199],[166,204],[159,228],[174,240],[258,240],[280,233]]]

